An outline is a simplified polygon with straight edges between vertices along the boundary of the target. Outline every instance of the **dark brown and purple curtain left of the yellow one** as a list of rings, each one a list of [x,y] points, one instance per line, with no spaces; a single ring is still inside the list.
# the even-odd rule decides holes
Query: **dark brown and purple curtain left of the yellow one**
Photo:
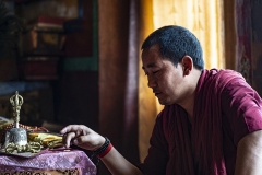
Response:
[[[138,148],[139,0],[98,1],[99,133],[130,162]],[[90,82],[93,83],[93,82]],[[88,116],[87,117],[93,117]],[[110,173],[99,163],[98,174]]]

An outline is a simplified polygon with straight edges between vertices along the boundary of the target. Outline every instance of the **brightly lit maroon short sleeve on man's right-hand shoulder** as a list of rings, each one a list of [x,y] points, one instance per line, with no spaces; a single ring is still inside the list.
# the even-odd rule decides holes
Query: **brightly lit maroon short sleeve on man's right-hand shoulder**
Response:
[[[249,132],[262,129],[262,101],[245,81],[233,81],[222,93],[222,109],[237,145]]]

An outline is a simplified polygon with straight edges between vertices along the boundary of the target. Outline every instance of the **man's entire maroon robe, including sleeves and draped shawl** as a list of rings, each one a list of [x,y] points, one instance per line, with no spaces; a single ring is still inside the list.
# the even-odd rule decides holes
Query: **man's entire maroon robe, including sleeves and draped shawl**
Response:
[[[233,175],[238,141],[262,129],[262,101],[229,70],[204,70],[192,125],[179,105],[158,115],[151,148],[139,167],[148,175]],[[253,113],[252,113],[253,112]]]

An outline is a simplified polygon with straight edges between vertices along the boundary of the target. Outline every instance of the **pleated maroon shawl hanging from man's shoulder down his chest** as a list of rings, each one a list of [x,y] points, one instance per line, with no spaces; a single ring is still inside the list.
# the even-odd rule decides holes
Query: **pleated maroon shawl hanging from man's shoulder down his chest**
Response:
[[[195,91],[194,116],[192,119],[192,147],[198,174],[226,175],[223,154],[221,96],[229,82],[245,81],[235,71],[204,71]],[[202,98],[202,104],[198,98]]]

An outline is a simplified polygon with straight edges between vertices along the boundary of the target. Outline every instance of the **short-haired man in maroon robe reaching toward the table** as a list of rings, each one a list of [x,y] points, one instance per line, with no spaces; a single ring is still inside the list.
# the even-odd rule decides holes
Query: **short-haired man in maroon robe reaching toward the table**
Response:
[[[164,109],[140,165],[86,126],[61,130],[67,147],[94,151],[114,175],[261,175],[262,100],[233,70],[204,69],[200,42],[164,26],[142,45],[142,62]]]

